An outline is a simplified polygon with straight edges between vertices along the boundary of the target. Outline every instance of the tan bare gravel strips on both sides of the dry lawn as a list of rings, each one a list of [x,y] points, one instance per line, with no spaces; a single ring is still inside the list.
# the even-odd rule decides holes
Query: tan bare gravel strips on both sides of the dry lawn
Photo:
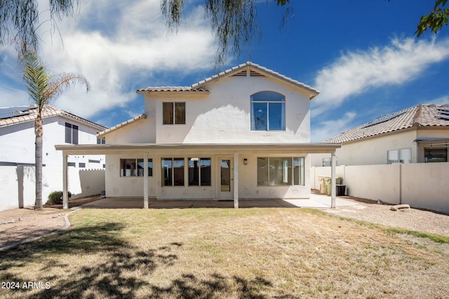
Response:
[[[395,228],[420,230],[422,232],[449,236],[448,215],[420,209],[391,211],[390,205],[368,203],[349,197],[345,197],[345,199],[353,200],[356,202],[356,205],[352,207],[337,207],[336,209],[323,209],[323,211]],[[34,209],[0,211],[0,248],[26,239],[40,237],[63,228],[65,225],[64,216],[68,212],[55,208],[44,208],[41,211],[34,211]]]

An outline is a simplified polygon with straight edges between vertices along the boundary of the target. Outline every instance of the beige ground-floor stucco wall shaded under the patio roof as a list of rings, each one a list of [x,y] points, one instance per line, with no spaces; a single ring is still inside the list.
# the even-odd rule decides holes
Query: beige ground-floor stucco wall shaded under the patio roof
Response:
[[[304,186],[257,186],[257,157],[304,157]],[[211,186],[188,186],[187,159],[185,160],[185,186],[162,186],[161,158],[211,158]],[[142,153],[123,153],[107,155],[106,169],[106,196],[107,197],[142,197],[142,176],[120,176],[120,159],[142,159]],[[158,200],[175,199],[220,199],[220,165],[221,158],[231,158],[230,154],[210,155],[210,153],[153,153],[149,159],[153,161],[153,176],[149,176],[149,197]],[[248,164],[243,164],[243,159]],[[309,198],[310,197],[310,158],[309,155],[288,154],[239,154],[239,198],[266,199],[266,198]],[[231,198],[231,197],[230,197]]]

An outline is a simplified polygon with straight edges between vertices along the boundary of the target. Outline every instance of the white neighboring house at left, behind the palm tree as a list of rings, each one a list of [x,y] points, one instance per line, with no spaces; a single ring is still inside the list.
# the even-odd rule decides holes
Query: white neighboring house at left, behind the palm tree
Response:
[[[0,108],[0,165],[34,165],[34,120],[37,106]],[[107,127],[98,125],[51,105],[42,110],[44,167],[60,167],[62,155],[55,144],[99,144],[98,132]],[[87,155],[70,157],[70,167],[104,168],[105,158]]]

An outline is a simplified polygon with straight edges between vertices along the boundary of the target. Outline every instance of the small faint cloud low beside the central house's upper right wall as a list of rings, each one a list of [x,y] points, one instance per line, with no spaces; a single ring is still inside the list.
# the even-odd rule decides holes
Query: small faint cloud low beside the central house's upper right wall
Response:
[[[326,139],[337,136],[338,134],[348,130],[357,113],[348,111],[344,116],[337,120],[326,120],[313,127],[311,130],[311,141],[321,142]]]

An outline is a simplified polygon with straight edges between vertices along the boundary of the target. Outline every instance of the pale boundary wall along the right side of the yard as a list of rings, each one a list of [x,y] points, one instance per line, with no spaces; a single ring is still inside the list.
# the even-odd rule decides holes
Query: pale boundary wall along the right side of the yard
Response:
[[[449,162],[337,166],[346,195],[449,214]],[[311,188],[330,167],[311,167]]]

